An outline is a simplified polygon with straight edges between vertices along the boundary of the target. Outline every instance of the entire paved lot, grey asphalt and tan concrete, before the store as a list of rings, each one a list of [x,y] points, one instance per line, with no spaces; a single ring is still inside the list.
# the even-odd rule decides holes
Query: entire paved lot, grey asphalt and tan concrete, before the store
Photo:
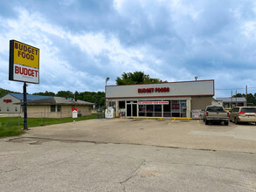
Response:
[[[256,191],[256,126],[86,120],[0,139],[0,191]]]

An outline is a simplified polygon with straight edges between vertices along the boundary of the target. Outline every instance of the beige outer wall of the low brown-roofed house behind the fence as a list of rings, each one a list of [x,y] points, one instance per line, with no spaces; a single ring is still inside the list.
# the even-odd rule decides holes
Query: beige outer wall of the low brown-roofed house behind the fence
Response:
[[[78,109],[78,114],[81,116],[91,115],[92,110],[91,106],[75,106]],[[28,117],[34,118],[64,118],[64,117],[72,117],[72,106],[61,106],[61,112],[51,112],[51,106],[27,106],[27,114]],[[22,114],[23,115],[23,114]]]

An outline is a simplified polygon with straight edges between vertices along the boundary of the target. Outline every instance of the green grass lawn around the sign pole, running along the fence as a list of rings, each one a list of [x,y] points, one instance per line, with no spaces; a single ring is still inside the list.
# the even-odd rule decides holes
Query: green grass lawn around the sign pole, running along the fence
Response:
[[[92,115],[78,117],[76,121],[80,120],[92,120],[97,119],[98,114],[93,113]],[[17,136],[20,134],[24,134],[23,129],[23,121],[24,119],[21,117],[0,117],[0,138],[1,137],[10,137],[10,136]],[[28,118],[27,124],[29,127],[39,127],[39,126],[48,126],[52,124],[59,124],[59,123],[67,123],[73,122],[72,117],[68,118],[61,118],[61,119],[53,119],[53,118]]]

